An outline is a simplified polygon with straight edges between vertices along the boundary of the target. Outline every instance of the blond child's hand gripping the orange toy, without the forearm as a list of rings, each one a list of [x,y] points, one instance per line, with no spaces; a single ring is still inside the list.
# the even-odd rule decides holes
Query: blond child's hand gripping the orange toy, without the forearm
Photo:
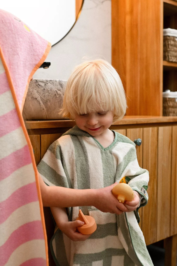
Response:
[[[89,235],[83,235],[77,231],[77,226],[84,225],[84,222],[77,220],[74,222],[65,222],[60,226],[61,231],[67,235],[72,241],[84,241],[89,238]]]

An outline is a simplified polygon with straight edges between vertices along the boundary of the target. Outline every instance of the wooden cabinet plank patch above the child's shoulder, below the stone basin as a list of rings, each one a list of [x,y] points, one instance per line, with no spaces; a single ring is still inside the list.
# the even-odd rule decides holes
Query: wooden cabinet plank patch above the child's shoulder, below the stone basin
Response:
[[[61,135],[62,133],[41,135],[41,159],[46,153],[50,144],[52,144],[55,140],[61,137]]]

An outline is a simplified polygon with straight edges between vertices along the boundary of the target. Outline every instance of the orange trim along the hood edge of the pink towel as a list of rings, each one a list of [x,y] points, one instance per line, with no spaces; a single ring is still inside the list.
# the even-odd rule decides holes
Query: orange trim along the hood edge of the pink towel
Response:
[[[26,96],[27,96],[29,82],[31,81],[31,79],[32,79],[34,73],[36,72],[36,70],[44,63],[44,60],[48,56],[48,53],[50,52],[50,49],[51,49],[51,43],[48,42],[47,48],[45,49],[45,52],[44,52],[41,60],[37,63],[37,65],[34,66],[33,70],[31,71],[31,74],[28,77],[28,83],[27,83],[27,86],[25,88],[25,92],[24,92],[23,99],[22,99],[22,102],[21,102],[21,108],[20,108],[21,113],[23,111],[23,106],[24,106],[25,99],[26,99]]]

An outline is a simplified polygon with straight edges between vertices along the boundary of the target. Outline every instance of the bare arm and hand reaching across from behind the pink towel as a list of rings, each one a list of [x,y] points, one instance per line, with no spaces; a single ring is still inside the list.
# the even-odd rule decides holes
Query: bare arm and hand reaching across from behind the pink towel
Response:
[[[103,212],[116,214],[121,214],[127,210],[112,194],[112,189],[115,184],[101,189],[71,189],[59,186],[47,186],[40,174],[39,181],[44,206],[94,206]]]

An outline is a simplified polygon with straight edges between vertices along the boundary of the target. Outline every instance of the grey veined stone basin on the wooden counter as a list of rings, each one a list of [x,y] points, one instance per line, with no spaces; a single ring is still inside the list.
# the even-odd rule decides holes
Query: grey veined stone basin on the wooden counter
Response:
[[[66,80],[31,80],[23,108],[24,119],[66,119],[59,115],[63,105],[65,86]]]

